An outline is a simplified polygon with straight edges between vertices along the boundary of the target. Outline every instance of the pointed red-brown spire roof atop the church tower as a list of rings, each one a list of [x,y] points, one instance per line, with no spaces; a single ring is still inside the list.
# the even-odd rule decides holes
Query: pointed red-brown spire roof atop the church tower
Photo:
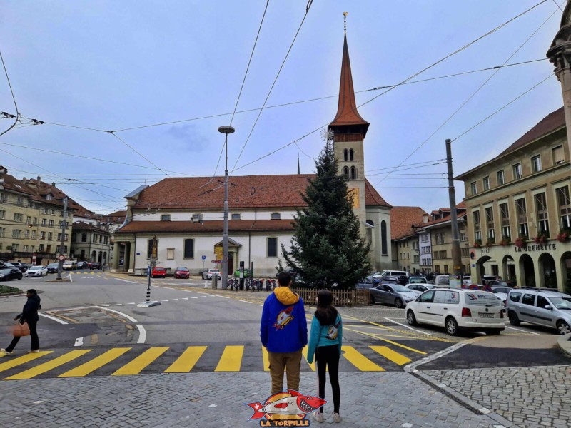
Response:
[[[369,127],[368,121],[363,119],[357,111],[355,103],[355,90],[353,89],[353,76],[349,61],[349,48],[347,46],[347,34],[343,43],[343,61],[341,63],[341,81],[339,83],[339,102],[337,115],[330,123],[330,127],[338,126],[361,126],[363,136]]]

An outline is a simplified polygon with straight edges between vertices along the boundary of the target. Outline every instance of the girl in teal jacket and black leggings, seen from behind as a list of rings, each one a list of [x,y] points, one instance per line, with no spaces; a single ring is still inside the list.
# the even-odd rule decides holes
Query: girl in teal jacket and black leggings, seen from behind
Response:
[[[329,382],[333,389],[333,421],[341,422],[339,406],[341,391],[339,388],[339,358],[343,338],[341,315],[333,303],[333,294],[329,290],[320,290],[317,295],[317,310],[311,322],[308,347],[308,362],[317,363],[319,397],[325,399],[325,370],[329,370]],[[323,406],[315,412],[315,420],[323,422]]]

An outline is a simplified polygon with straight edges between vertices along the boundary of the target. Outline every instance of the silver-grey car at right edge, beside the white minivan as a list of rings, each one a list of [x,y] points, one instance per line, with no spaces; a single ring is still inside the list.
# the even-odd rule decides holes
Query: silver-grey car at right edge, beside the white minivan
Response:
[[[507,317],[511,325],[530,322],[571,333],[571,296],[558,291],[513,289],[507,294]]]

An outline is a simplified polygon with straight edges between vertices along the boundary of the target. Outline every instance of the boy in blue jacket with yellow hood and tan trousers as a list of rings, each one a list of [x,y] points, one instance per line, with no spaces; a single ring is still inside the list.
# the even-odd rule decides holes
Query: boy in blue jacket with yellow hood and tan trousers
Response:
[[[308,325],[303,300],[290,290],[288,272],[278,275],[278,288],[263,303],[260,337],[268,350],[272,394],[283,391],[283,369],[288,389],[299,390],[301,350],[308,343]]]

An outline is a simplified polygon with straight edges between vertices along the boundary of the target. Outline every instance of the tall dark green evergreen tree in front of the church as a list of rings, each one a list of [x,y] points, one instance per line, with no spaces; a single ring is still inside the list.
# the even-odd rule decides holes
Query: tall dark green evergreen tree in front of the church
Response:
[[[315,161],[317,176],[302,193],[307,206],[296,210],[291,248],[281,248],[298,282],[311,287],[353,287],[370,272],[370,245],[360,236],[347,179],[338,175],[337,163],[328,138]]]

